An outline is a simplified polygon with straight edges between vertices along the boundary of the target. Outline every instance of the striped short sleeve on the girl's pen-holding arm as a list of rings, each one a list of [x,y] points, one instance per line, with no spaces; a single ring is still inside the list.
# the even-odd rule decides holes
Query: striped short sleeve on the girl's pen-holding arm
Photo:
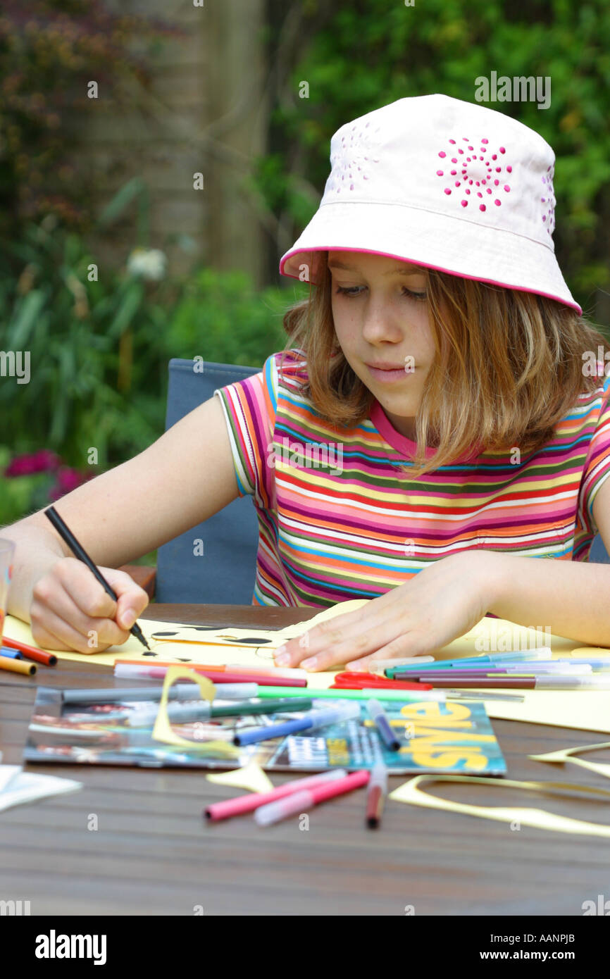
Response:
[[[254,496],[265,509],[273,496],[268,459],[277,404],[277,356],[267,357],[258,374],[214,390],[224,411],[239,495]]]

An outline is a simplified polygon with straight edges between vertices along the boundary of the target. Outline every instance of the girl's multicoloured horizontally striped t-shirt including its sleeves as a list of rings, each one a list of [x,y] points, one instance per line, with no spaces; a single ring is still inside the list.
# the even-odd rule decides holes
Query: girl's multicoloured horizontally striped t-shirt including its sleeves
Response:
[[[254,605],[375,598],[431,561],[474,548],[587,560],[592,502],[610,476],[610,377],[602,374],[552,441],[519,464],[508,452],[475,451],[413,480],[416,444],[377,400],[359,425],[333,428],[303,394],[304,351],[285,351],[281,373],[280,358],[214,391],[239,494],[257,508]]]

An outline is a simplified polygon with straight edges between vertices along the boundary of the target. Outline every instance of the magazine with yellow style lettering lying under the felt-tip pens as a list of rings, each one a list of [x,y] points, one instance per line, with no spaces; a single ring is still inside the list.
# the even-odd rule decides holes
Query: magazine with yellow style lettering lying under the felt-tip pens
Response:
[[[95,704],[66,704],[63,691],[38,687],[23,759],[87,765],[165,766],[197,769],[239,769],[257,763],[268,771],[372,769],[383,761],[391,774],[464,772],[502,775],[506,764],[480,701],[404,702],[384,700],[399,750],[388,748],[371,720],[366,701],[333,700],[332,706],[357,703],[359,715],[349,721],[288,734],[243,747],[233,744],[238,732],[304,717],[303,711],[211,718],[191,723],[170,722],[171,731],[188,742],[168,744],[153,738],[154,721],[130,726],[134,711],[159,710],[159,700],[106,703],[100,692]],[[329,708],[315,700],[313,709]],[[194,701],[181,701],[191,703]],[[197,701],[202,703],[202,701]],[[216,699],[213,706],[219,706]],[[259,701],[252,701],[253,704]]]

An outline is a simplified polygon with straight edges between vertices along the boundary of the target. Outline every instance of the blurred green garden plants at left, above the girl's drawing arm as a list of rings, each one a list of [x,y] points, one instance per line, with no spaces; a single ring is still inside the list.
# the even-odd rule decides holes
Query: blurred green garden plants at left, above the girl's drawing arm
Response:
[[[129,272],[89,281],[95,264],[52,215],[27,227],[7,261],[0,255],[2,349],[30,352],[29,383],[0,383],[11,448],[51,449],[81,470],[91,447],[104,469],[163,433],[170,357],[262,366],[284,347],[282,311],[295,298],[293,288],[258,294],[247,275],[209,268],[186,282]]]

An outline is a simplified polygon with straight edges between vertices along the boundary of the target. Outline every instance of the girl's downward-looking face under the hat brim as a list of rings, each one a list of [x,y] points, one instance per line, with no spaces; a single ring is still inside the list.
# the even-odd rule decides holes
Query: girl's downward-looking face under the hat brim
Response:
[[[425,269],[398,258],[329,252],[337,339],[354,374],[401,435],[415,417],[435,347]],[[395,370],[379,368],[394,367]]]

